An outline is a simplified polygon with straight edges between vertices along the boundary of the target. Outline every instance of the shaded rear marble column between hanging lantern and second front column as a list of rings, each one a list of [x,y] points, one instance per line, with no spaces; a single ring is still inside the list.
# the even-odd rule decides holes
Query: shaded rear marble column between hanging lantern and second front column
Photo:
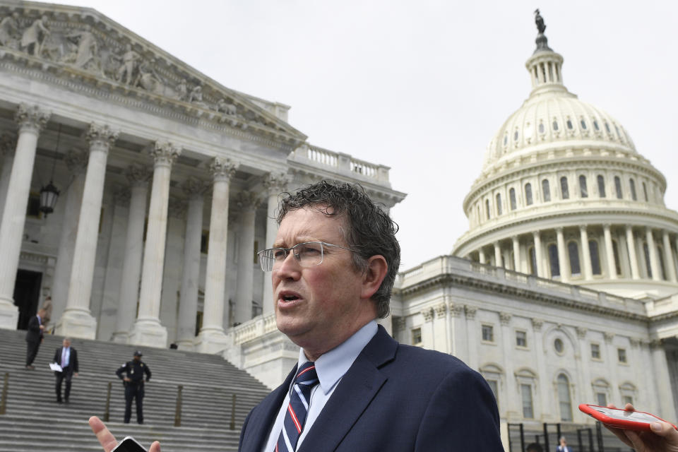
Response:
[[[66,298],[69,295],[73,251],[76,248],[80,206],[83,203],[83,192],[85,191],[87,157],[86,151],[73,149],[66,153],[65,158],[66,167],[69,168],[72,179],[65,196],[62,195],[66,198],[66,206],[64,206],[59,255],[57,256],[57,266],[54,268],[54,285],[52,285],[52,319],[55,325],[59,323],[61,314],[66,309]]]

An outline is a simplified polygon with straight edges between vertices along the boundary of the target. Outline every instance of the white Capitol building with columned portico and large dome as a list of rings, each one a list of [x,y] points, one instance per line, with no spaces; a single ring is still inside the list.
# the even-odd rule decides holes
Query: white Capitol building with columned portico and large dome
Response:
[[[400,273],[381,323],[480,371],[504,425],[590,422],[583,402],[677,420],[678,213],[622,124],[565,88],[563,61],[540,29],[468,232]],[[385,208],[405,198],[388,167],[307,143],[287,105],[89,8],[0,1],[0,73],[0,328],[50,296],[57,334],[220,353],[277,386],[298,349],[255,252],[280,192],[340,179]]]

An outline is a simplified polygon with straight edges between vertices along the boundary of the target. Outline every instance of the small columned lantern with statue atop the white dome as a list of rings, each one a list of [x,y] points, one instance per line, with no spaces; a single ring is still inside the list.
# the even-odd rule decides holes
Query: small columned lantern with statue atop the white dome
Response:
[[[561,72],[563,57],[549,47],[547,37],[544,35],[546,25],[538,9],[535,10],[535,23],[539,31],[535,40],[537,48],[525,63],[532,79],[533,90],[530,95],[552,90],[566,91]]]

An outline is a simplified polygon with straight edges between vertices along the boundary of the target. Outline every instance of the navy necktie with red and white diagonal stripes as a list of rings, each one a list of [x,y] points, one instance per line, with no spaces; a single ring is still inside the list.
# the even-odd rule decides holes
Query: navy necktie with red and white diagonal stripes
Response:
[[[275,445],[275,452],[294,452],[296,450],[299,436],[302,434],[304,422],[306,422],[306,416],[309,412],[311,390],[317,383],[318,374],[316,374],[315,363],[304,363],[297,371],[295,383],[292,384],[290,405],[287,405],[283,430],[278,437],[278,444]]]

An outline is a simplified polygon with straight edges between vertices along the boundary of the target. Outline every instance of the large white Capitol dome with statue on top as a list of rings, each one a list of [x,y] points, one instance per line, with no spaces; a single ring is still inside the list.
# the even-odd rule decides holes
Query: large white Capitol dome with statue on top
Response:
[[[453,254],[624,297],[677,293],[665,177],[617,119],[569,92],[541,25],[532,90],[487,146]]]

